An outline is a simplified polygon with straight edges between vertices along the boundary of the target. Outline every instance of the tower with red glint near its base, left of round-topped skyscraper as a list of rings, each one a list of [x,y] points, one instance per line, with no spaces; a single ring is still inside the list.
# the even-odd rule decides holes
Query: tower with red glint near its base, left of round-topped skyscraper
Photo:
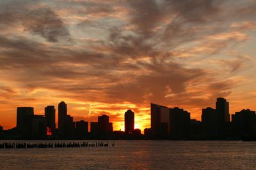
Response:
[[[54,106],[47,106],[44,108],[45,127],[47,135],[53,135],[55,132],[55,108]]]

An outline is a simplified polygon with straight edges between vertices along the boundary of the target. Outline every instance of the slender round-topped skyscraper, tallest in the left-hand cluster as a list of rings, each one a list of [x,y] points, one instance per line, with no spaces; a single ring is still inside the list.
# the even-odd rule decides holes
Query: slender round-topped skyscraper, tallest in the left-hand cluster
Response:
[[[63,101],[58,106],[58,129],[60,138],[65,137],[65,122],[67,120],[67,104]]]

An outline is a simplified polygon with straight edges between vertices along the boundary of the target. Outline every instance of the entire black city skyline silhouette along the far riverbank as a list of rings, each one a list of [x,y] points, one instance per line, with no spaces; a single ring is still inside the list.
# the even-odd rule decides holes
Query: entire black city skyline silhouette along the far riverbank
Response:
[[[125,131],[115,131],[108,115],[97,117],[97,122],[74,121],[68,115],[68,105],[58,104],[58,127],[54,106],[45,107],[45,115],[36,115],[33,107],[17,107],[17,125],[3,130],[0,125],[1,139],[256,139],[256,113],[246,109],[229,113],[227,99],[218,97],[215,108],[202,108],[202,121],[191,118],[184,108],[168,108],[150,103],[150,127],[134,127],[136,114],[130,109],[125,111]],[[231,118],[230,118],[231,117]],[[90,126],[89,126],[90,125]]]

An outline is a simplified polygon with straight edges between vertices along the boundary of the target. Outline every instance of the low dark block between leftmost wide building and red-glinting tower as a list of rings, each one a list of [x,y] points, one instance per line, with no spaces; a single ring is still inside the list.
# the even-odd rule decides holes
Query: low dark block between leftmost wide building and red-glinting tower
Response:
[[[45,118],[43,115],[33,115],[31,117],[30,138],[44,139],[46,135]]]

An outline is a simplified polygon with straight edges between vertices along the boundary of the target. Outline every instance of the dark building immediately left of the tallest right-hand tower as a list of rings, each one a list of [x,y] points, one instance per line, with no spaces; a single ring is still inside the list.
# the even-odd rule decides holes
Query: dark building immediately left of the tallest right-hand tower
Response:
[[[202,127],[206,138],[221,138],[222,131],[220,126],[219,115],[213,108],[202,110]]]

